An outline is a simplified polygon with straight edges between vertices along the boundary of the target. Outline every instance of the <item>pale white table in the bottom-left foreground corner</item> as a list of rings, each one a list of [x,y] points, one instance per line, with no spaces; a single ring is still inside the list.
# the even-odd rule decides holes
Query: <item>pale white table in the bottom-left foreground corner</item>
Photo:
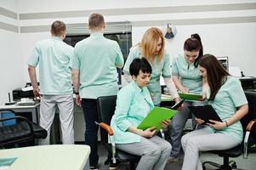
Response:
[[[18,157],[9,170],[88,170],[90,147],[52,144],[0,150],[0,158]]]

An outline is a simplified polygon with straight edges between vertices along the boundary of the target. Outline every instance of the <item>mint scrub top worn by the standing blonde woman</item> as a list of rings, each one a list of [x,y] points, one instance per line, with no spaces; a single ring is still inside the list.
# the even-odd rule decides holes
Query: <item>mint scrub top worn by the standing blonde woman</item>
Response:
[[[128,54],[128,59],[125,62],[123,67],[123,73],[126,75],[130,75],[129,66],[135,58],[142,58],[143,55],[140,53],[139,46],[130,49],[130,53]],[[150,63],[151,64],[151,63]],[[152,73],[151,73],[151,81],[147,85],[147,88],[150,91],[151,98],[153,100],[154,105],[159,105],[161,102],[161,84],[160,77],[168,78],[171,77],[171,63],[169,55],[164,53],[162,56],[162,60],[159,62],[157,59],[157,55],[153,63],[151,64]]]

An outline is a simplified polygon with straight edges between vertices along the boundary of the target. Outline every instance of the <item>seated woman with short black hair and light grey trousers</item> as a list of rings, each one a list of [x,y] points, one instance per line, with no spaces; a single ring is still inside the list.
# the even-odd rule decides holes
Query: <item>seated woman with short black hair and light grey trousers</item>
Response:
[[[145,58],[134,59],[129,66],[133,81],[117,94],[117,107],[111,119],[117,148],[141,156],[136,169],[164,169],[172,149],[171,144],[155,135],[156,128],[137,128],[154,104],[146,85],[150,82],[151,65]],[[169,120],[162,122],[168,127]]]

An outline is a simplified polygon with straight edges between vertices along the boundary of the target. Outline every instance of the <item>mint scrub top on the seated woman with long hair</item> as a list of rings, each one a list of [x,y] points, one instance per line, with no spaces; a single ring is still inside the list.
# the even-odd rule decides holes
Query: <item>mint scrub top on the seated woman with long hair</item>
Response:
[[[207,98],[210,97],[210,90],[208,88]],[[213,106],[213,109],[218,113],[220,119],[225,122],[236,113],[236,108],[247,104],[246,96],[243,92],[242,85],[236,77],[227,77],[226,82],[219,88],[213,101],[208,102]],[[211,128],[211,127],[209,127]],[[211,128],[215,133],[229,134],[238,142],[242,142],[242,124],[240,121],[231,124],[221,130]]]

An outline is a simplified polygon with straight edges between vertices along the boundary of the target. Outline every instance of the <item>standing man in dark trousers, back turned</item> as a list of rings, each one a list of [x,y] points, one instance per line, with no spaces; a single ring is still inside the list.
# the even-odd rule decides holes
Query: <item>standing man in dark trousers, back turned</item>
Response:
[[[91,14],[88,26],[90,37],[77,42],[74,48],[72,80],[77,105],[82,105],[84,113],[85,144],[91,147],[90,169],[98,169],[96,99],[117,94],[117,67],[122,68],[123,57],[117,42],[103,37],[105,21],[102,14]]]

